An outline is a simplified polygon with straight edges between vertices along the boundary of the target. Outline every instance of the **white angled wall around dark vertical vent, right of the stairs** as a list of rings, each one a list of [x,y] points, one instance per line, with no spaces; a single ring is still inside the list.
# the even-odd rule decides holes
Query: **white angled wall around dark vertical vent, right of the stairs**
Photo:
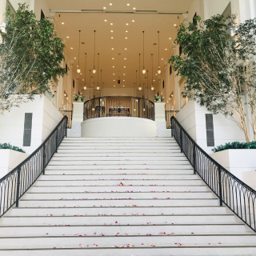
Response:
[[[208,154],[212,153],[213,146],[207,146],[206,140],[206,114],[211,114],[206,107],[197,102],[190,101],[180,110],[176,116],[178,122],[188,134]],[[245,137],[238,126],[222,114],[214,114],[214,146],[226,142],[244,142]]]

